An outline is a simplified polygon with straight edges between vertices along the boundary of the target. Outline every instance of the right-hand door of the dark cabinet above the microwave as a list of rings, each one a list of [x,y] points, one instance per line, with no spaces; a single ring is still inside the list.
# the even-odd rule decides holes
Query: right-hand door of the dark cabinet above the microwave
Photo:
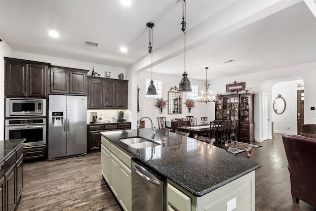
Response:
[[[28,96],[46,96],[46,65],[28,64]]]

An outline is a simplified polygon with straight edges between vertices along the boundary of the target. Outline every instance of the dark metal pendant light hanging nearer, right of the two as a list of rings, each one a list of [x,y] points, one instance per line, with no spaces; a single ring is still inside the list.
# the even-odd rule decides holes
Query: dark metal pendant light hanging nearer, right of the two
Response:
[[[188,79],[188,74],[186,72],[186,0],[182,1],[182,22],[181,30],[184,33],[184,73],[182,74],[183,78],[179,83],[178,91],[192,91],[191,83]]]

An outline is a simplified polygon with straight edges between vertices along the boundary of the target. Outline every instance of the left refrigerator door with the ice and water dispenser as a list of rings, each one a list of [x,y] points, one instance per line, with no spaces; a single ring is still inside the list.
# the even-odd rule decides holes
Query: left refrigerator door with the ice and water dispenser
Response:
[[[48,98],[48,159],[66,156],[66,99],[66,95]]]

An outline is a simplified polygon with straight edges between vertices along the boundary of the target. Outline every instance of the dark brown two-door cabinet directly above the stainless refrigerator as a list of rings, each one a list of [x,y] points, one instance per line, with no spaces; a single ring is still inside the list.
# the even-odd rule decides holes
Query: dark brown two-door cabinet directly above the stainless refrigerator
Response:
[[[51,66],[49,72],[50,93],[87,95],[88,70]]]

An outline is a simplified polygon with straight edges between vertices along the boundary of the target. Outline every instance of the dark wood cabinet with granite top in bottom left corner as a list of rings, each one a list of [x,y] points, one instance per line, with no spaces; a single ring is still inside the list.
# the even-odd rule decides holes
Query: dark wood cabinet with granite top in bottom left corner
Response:
[[[0,210],[14,210],[23,189],[23,142],[25,138],[0,141]]]

